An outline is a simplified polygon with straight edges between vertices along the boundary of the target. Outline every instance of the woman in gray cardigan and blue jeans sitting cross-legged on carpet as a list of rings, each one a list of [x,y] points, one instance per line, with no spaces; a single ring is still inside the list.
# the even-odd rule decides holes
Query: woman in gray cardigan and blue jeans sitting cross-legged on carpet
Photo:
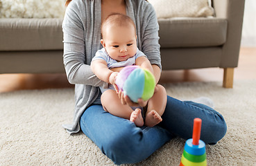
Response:
[[[216,144],[223,138],[226,124],[221,114],[196,102],[168,96],[162,122],[155,127],[136,127],[133,122],[104,111],[98,86],[108,83],[99,80],[89,66],[96,50],[101,48],[101,22],[112,12],[132,18],[137,28],[138,48],[148,57],[155,79],[159,80],[157,17],[145,0],[67,0],[66,4],[62,24],[64,64],[69,82],[76,84],[74,121],[63,125],[69,133],[81,129],[117,165],[144,160],[173,137],[190,138],[194,118],[203,120],[201,139],[205,143]],[[130,104],[128,98],[123,102]]]

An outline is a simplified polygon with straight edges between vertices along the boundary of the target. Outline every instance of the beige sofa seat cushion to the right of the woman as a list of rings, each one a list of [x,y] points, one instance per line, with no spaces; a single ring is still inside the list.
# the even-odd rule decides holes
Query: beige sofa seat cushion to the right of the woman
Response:
[[[226,19],[184,17],[158,23],[161,48],[221,46],[226,41]]]

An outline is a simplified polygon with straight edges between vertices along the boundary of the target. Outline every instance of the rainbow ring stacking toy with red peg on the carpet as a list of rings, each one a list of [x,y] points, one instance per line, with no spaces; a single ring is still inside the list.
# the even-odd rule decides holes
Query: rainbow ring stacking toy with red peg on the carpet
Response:
[[[205,142],[200,140],[202,120],[194,119],[192,138],[186,141],[180,166],[206,166]]]

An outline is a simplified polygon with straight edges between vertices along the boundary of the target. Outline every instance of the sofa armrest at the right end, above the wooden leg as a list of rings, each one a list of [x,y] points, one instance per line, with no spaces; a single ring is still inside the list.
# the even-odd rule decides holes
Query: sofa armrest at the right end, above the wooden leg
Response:
[[[221,68],[237,67],[245,0],[212,0],[216,17],[227,19],[227,41],[223,45]]]

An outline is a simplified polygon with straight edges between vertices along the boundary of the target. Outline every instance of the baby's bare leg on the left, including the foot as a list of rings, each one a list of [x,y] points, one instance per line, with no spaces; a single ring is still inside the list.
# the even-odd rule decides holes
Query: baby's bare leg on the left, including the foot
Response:
[[[139,127],[143,126],[143,118],[140,109],[133,111],[128,105],[123,105],[117,93],[114,90],[105,91],[101,95],[101,104],[103,109],[114,116],[126,118]]]

